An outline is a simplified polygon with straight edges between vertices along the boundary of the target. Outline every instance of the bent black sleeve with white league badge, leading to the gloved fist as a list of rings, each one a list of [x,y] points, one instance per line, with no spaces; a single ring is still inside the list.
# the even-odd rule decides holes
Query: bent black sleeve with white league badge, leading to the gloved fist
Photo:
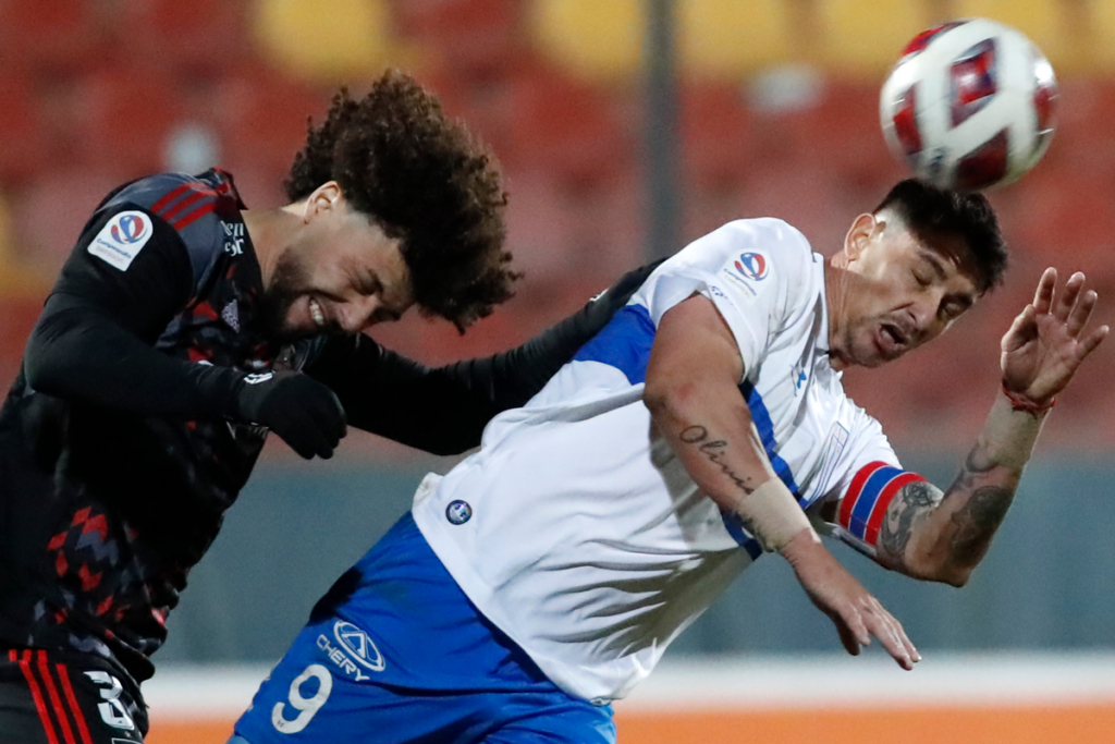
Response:
[[[143,211],[154,234],[120,270],[88,250],[123,210]],[[205,418],[225,410],[236,370],[168,357],[153,347],[190,301],[194,271],[182,239],[128,204],[86,225],[23,356],[28,384],[55,397],[137,415]]]

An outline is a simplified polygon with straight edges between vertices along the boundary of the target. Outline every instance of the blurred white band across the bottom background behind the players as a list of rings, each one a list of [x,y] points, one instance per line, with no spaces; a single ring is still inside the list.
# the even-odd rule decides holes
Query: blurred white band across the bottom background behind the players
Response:
[[[166,665],[143,686],[153,718],[237,717],[270,671]],[[879,653],[667,660],[620,713],[910,706],[1115,706],[1115,650],[930,654],[903,671]]]

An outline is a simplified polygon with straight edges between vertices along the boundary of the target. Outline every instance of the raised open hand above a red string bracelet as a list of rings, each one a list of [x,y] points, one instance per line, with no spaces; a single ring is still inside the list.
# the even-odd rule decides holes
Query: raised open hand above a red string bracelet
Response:
[[[1049,405],[1107,336],[1107,326],[1086,330],[1097,297],[1084,281],[1078,271],[1058,290],[1057,270],[1046,269],[1034,302],[1002,337],[1002,384],[1036,407]]]

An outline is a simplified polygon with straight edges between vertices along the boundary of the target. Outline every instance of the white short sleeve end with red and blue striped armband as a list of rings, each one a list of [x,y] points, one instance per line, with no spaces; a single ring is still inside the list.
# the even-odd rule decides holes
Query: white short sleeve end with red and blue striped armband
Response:
[[[874,558],[883,518],[894,495],[903,486],[925,479],[903,470],[879,422],[863,410],[856,413],[853,447],[824,500],[836,502],[835,522],[827,525],[833,535]]]

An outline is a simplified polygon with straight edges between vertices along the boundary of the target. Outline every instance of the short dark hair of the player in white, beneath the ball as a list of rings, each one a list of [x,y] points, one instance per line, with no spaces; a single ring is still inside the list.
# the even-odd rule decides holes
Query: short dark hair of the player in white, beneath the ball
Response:
[[[1007,271],[1007,244],[999,221],[982,194],[938,189],[924,181],[906,178],[891,189],[875,213],[891,209],[920,241],[933,247],[933,238],[959,235],[968,244],[979,271],[977,284],[986,292],[1002,282]]]

